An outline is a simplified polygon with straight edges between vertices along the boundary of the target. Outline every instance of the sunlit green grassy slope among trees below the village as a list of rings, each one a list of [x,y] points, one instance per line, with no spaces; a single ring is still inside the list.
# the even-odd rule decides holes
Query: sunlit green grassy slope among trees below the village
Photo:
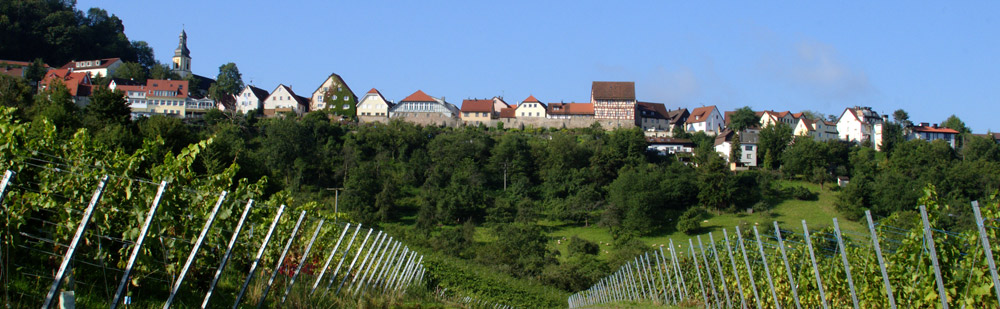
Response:
[[[787,181],[782,182],[782,185],[800,185],[809,188],[809,190],[812,190],[813,192],[820,191],[819,185],[806,182]],[[758,229],[761,232],[768,230],[767,227],[769,227],[774,221],[778,221],[778,224],[781,225],[783,229],[794,230],[796,232],[802,231],[802,220],[806,220],[806,223],[809,224],[810,230],[833,226],[832,219],[838,217],[838,213],[833,206],[835,193],[829,190],[831,185],[835,184],[827,184],[826,190],[820,192],[819,199],[816,201],[788,199],[782,201],[778,205],[775,205],[772,210],[767,212],[757,212],[754,214],[720,214],[713,216],[712,218],[702,222],[702,232],[700,234],[702,241],[708,242],[708,233],[714,234],[716,239],[721,238],[723,228],[732,234],[734,232],[734,227],[739,224],[740,221],[746,221],[750,224],[759,224]],[[676,218],[674,220],[676,220]],[[858,233],[866,231],[861,223],[848,221],[846,219],[838,219],[838,221],[840,221],[840,228],[843,230]],[[573,235],[590,241],[599,242],[601,244],[600,256],[602,257],[611,252],[611,234],[608,233],[606,228],[600,228],[594,225],[589,227],[563,225],[558,222],[542,222],[541,224],[547,226],[551,230],[549,233],[549,235],[552,236],[551,244],[562,252],[562,256],[566,256],[568,253],[567,242],[563,240],[563,238],[569,239]],[[673,231],[671,233],[661,235],[641,237],[640,240],[649,244],[651,247],[655,247],[660,244],[668,244],[671,239],[674,241],[674,245],[686,244],[688,238],[695,236],[696,235],[689,236],[681,232]],[[694,239],[694,241],[697,244],[697,239]]]

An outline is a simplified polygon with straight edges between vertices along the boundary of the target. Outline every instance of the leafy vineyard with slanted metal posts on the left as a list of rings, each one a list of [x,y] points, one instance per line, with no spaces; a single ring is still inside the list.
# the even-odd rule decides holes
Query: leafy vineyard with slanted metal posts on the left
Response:
[[[233,183],[236,164],[196,173],[211,139],[126,154],[11,111],[0,115],[8,307],[385,306],[426,294],[423,255],[389,233],[281,193],[254,200],[266,178]]]

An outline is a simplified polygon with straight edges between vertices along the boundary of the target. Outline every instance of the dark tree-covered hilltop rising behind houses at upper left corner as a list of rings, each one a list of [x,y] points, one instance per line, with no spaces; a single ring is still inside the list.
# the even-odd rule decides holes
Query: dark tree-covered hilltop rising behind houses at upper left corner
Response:
[[[129,41],[122,20],[100,8],[78,10],[74,1],[0,1],[0,59],[42,59],[59,67],[71,60],[121,58],[155,64],[144,41]]]

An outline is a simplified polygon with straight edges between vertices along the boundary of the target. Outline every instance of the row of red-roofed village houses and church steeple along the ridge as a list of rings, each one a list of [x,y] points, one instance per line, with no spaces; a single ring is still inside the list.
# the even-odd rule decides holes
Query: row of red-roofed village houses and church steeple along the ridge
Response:
[[[31,63],[0,60],[2,73],[21,77]],[[588,102],[556,102],[541,100],[533,95],[520,101],[508,102],[501,96],[488,99],[465,99],[457,106],[444,96],[432,96],[422,90],[393,101],[372,88],[360,98],[338,74],[330,74],[315,90],[302,96],[291,86],[277,85],[270,91],[246,85],[239,93],[212,98],[206,89],[215,81],[195,75],[191,71],[192,59],[187,46],[187,33],[182,31],[178,47],[170,64],[177,76],[185,79],[148,79],[144,84],[132,80],[110,78],[108,87],[122,91],[130,104],[132,117],[163,115],[181,119],[197,119],[211,110],[229,113],[256,113],[263,117],[302,116],[312,111],[328,111],[344,121],[360,123],[401,120],[434,126],[503,126],[505,128],[584,128],[599,125],[611,130],[641,128],[646,135],[648,149],[661,155],[692,153],[691,139],[681,138],[702,132],[714,137],[714,148],[730,162],[732,169],[746,169],[757,165],[758,134],[761,128],[782,124],[792,129],[795,136],[808,136],[816,141],[840,140],[855,144],[871,145],[878,150],[882,145],[883,124],[889,122],[887,114],[879,114],[871,107],[846,107],[839,116],[807,115],[790,111],[755,111],[758,123],[734,132],[730,118],[734,111],[722,111],[716,106],[693,109],[670,109],[663,103],[639,100],[635,82],[594,81]],[[45,65],[45,74],[38,82],[39,91],[52,83],[64,84],[74,101],[85,106],[93,87],[99,87],[95,78],[113,76],[123,61],[119,58],[70,61],[58,68]],[[188,79],[189,77],[193,79]],[[192,80],[198,85],[192,85]],[[739,134],[737,134],[739,133]],[[907,123],[906,140],[942,140],[956,147],[959,131],[927,122]],[[979,134],[1000,143],[1000,134]],[[734,138],[739,141],[734,143]],[[734,144],[740,145],[740,158],[733,160]]]

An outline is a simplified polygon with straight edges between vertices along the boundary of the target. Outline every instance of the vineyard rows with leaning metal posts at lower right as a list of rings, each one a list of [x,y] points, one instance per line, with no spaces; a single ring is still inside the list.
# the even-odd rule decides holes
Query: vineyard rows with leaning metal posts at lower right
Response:
[[[1000,306],[993,254],[1000,250],[997,203],[972,202],[977,229],[935,228],[949,206],[935,203],[933,187],[913,226],[874,221],[868,233],[833,227],[736,226],[721,238],[636,256],[590,289],[567,299],[570,307],[636,302],[699,307],[930,308]],[[901,222],[896,220],[895,222]],[[817,222],[818,223],[818,222]]]

